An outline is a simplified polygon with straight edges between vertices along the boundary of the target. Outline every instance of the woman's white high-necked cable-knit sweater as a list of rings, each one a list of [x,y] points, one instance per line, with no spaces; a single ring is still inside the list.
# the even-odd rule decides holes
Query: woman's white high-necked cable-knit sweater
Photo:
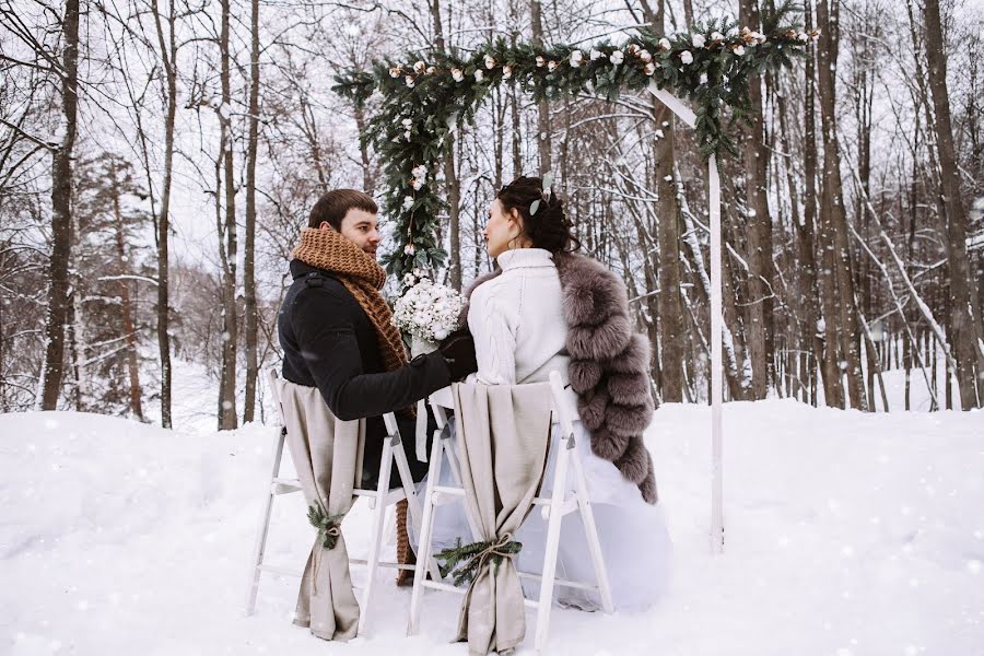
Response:
[[[475,338],[478,372],[485,385],[544,383],[550,372],[567,383],[567,326],[553,256],[541,248],[506,250],[502,274],[471,295],[468,328]]]

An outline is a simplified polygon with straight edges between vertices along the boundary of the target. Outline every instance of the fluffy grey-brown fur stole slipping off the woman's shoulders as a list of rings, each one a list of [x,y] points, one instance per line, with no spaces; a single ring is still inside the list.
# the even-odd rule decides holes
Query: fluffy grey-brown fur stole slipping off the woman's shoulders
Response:
[[[577,394],[581,421],[591,434],[591,452],[612,462],[656,503],[653,458],[643,432],[653,420],[649,342],[632,330],[625,284],[601,262],[578,254],[554,256],[567,323],[567,375]],[[466,298],[502,271],[477,278]],[[461,317],[468,316],[465,306]]]

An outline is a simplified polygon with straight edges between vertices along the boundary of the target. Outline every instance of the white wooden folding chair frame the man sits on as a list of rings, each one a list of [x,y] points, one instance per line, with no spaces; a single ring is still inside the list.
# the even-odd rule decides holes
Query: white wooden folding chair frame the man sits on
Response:
[[[285,424],[281,399],[277,387],[277,371],[270,368],[267,371],[267,384],[273,396],[278,408],[280,408],[281,423]],[[407,512],[413,517],[414,523],[421,517],[420,502],[417,497],[413,479],[410,475],[410,465],[407,461],[407,454],[403,452],[403,445],[400,440],[400,430],[397,425],[396,417],[393,412],[383,415],[386,424],[388,436],[383,443],[383,458],[379,462],[379,482],[375,490],[365,490],[356,488],[352,491],[355,496],[366,497],[370,508],[373,511],[373,527],[370,536],[368,555],[365,559],[350,558],[349,563],[354,565],[366,565],[366,582],[362,590],[360,599],[361,612],[359,613],[359,634],[363,635],[367,625],[370,608],[372,607],[373,591],[375,587],[376,571],[378,567],[390,567],[398,570],[415,570],[415,565],[401,565],[399,563],[379,561],[379,551],[383,543],[383,525],[386,517],[386,508],[397,502],[407,500]],[[267,487],[266,501],[263,503],[263,512],[260,519],[260,527],[256,537],[256,549],[254,550],[253,566],[250,567],[249,587],[246,593],[246,614],[251,616],[256,611],[256,597],[259,590],[259,579],[262,572],[272,572],[274,574],[301,577],[302,572],[278,565],[269,565],[263,562],[263,551],[267,546],[267,536],[270,531],[270,515],[273,509],[273,499],[280,494],[290,494],[292,492],[301,492],[301,482],[297,479],[288,479],[280,476],[280,462],[283,456],[283,443],[286,436],[288,426],[281,425],[278,429],[279,438],[277,448],[273,449],[273,467],[270,473],[270,481]],[[389,476],[393,462],[396,460],[397,471],[400,476],[399,488],[389,489]],[[434,565],[436,567],[436,565]]]

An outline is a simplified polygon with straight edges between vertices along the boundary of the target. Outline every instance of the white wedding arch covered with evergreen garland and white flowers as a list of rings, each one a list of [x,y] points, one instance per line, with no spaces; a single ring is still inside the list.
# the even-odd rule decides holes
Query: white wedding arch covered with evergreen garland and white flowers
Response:
[[[728,19],[694,25],[688,33],[659,37],[651,32],[623,44],[593,47],[489,43],[469,54],[456,50],[410,52],[386,59],[371,71],[336,78],[337,93],[364,108],[378,96],[378,108],[361,136],[383,162],[384,212],[397,224],[397,247],[385,258],[402,280],[414,268],[441,266],[437,243],[445,202],[435,179],[444,139],[459,121],[471,121],[496,85],[518,84],[534,99],[574,94],[613,101],[625,90],[648,90],[694,129],[707,163],[711,229],[711,544],[724,548],[722,424],[722,273],[719,156],[737,154],[731,132],[750,110],[749,79],[792,66],[803,56],[809,34],[789,21],[792,5],[762,13],[762,32]],[[786,23],[786,24],[783,24]],[[688,105],[689,103],[689,105]],[[375,104],[374,104],[375,107]],[[714,539],[718,536],[719,539]]]

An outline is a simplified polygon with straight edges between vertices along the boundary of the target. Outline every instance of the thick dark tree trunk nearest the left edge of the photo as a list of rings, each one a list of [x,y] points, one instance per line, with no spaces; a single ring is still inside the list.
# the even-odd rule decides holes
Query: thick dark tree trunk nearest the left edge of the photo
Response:
[[[79,0],[67,0],[61,22],[65,39],[61,113],[65,134],[51,162],[51,260],[48,317],[45,323],[43,410],[57,410],[65,375],[65,330],[69,315],[69,259],[72,249],[72,152],[79,107]]]

